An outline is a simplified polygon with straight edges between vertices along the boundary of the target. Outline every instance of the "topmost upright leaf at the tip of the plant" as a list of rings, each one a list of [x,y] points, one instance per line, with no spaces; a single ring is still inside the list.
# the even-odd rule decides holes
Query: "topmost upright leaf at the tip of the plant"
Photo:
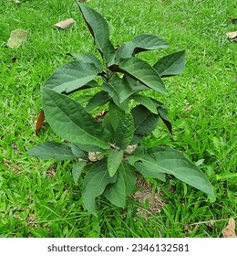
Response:
[[[93,9],[81,3],[77,4],[92,37],[94,37],[96,48],[98,48],[102,58],[108,63],[114,58],[115,49],[109,40],[108,24],[106,20]]]

